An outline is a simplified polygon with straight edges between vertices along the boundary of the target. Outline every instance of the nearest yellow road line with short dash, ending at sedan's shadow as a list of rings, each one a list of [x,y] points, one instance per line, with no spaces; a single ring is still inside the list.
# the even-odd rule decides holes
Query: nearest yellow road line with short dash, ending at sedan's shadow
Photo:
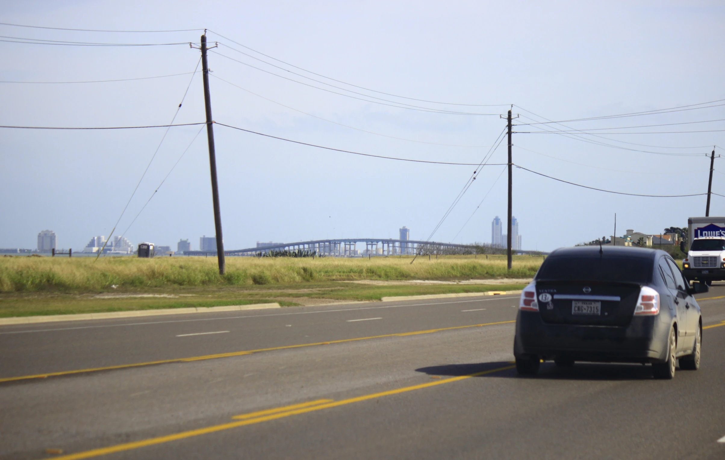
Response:
[[[268,409],[267,411],[257,411],[250,414],[242,414],[233,417],[239,420],[239,422],[223,423],[221,425],[212,425],[211,427],[199,428],[197,430],[183,431],[175,433],[173,435],[159,436],[157,438],[149,438],[144,440],[134,441],[132,443],[117,444],[116,446],[104,447],[93,449],[91,451],[71,453],[69,455],[54,457],[57,460],[79,460],[79,459],[90,459],[91,457],[97,457],[101,455],[107,455],[109,453],[131,451],[133,449],[142,448],[146,446],[154,446],[156,444],[168,443],[170,441],[191,438],[194,436],[207,435],[212,432],[218,432],[223,430],[230,430],[231,428],[244,427],[246,425],[254,425],[256,423],[268,422],[269,420],[281,419],[284,417],[290,417],[292,415],[306,414],[307,412],[320,411],[322,409],[330,409],[332,407],[345,406],[350,403],[357,403],[360,401],[368,401],[370,399],[382,398],[384,396],[397,395],[399,393],[406,393],[413,390],[421,390],[423,388],[434,387],[436,385],[443,385],[444,383],[458,382],[460,380],[469,379],[471,377],[479,377],[480,375],[492,374],[494,372],[500,372],[503,370],[513,369],[515,366],[498,367],[496,369],[489,369],[482,372],[476,372],[468,375],[461,375],[460,377],[451,377],[444,380],[436,380],[435,382],[421,383],[420,385],[412,385],[409,387],[397,388],[396,390],[381,391],[379,393],[371,393],[369,395],[357,396],[355,398],[343,399],[341,401],[333,401],[331,399],[320,399],[318,401],[310,401],[309,403],[293,404],[292,406],[280,407],[277,409]],[[329,401],[329,402],[324,402]],[[250,418],[247,418],[250,417]]]

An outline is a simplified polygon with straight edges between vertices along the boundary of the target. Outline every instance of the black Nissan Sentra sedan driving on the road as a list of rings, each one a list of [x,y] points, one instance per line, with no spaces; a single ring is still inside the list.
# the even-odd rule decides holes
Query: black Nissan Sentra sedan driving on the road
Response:
[[[524,288],[513,354],[521,375],[542,361],[652,364],[657,378],[700,367],[703,319],[695,293],[665,251],[584,246],[552,252]]]

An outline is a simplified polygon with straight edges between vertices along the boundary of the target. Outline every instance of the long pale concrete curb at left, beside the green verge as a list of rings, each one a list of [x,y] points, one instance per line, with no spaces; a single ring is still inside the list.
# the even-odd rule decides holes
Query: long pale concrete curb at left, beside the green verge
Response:
[[[110,311],[107,313],[82,313],[82,314],[54,314],[38,317],[12,317],[0,318],[0,325],[28,325],[38,322],[57,321],[80,321],[83,319],[112,319],[131,317],[153,317],[162,314],[189,314],[189,313],[214,313],[215,311],[239,311],[239,310],[261,310],[281,308],[276,302],[273,304],[249,304],[249,305],[225,305],[225,306],[192,306],[186,309],[158,309],[158,310],[133,310],[133,311]]]

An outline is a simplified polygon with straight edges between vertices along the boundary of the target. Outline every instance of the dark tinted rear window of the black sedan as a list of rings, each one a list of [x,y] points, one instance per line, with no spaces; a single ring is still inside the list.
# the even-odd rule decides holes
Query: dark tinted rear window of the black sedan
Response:
[[[550,256],[536,279],[649,283],[652,271],[652,260],[643,257]]]

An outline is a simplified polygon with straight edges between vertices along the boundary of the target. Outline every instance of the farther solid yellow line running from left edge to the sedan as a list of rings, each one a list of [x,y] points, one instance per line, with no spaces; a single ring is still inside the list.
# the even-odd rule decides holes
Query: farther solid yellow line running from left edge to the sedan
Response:
[[[516,322],[516,321],[515,321],[515,319],[513,319],[511,321],[486,322],[481,325],[440,327],[438,329],[419,330],[419,331],[415,331],[413,333],[371,335],[370,337],[346,338],[346,339],[341,339],[341,340],[330,340],[329,342],[301,343],[299,345],[287,345],[287,346],[277,346],[277,347],[272,347],[272,348],[260,348],[258,350],[233,351],[231,353],[210,354],[210,355],[204,355],[204,356],[191,356],[189,358],[162,359],[159,361],[147,361],[147,362],[133,363],[133,364],[120,364],[117,366],[92,367],[90,369],[75,369],[75,370],[70,370],[70,371],[48,372],[46,374],[36,374],[36,375],[20,375],[18,377],[0,378],[0,383],[1,382],[13,382],[16,380],[42,379],[42,378],[46,378],[46,377],[57,377],[60,375],[82,374],[85,372],[99,372],[99,371],[108,371],[108,370],[115,370],[115,369],[128,369],[130,367],[153,366],[153,365],[157,365],[157,364],[170,364],[170,363],[181,363],[181,362],[188,362],[188,361],[202,361],[204,359],[228,358],[231,356],[244,356],[247,354],[260,353],[262,351],[289,350],[291,348],[305,348],[305,347],[309,347],[309,346],[331,345],[332,343],[347,343],[347,342],[355,342],[357,340],[371,340],[374,338],[406,337],[407,335],[439,333],[444,330],[465,329],[468,327],[505,325],[505,324],[508,324],[511,322]]]

